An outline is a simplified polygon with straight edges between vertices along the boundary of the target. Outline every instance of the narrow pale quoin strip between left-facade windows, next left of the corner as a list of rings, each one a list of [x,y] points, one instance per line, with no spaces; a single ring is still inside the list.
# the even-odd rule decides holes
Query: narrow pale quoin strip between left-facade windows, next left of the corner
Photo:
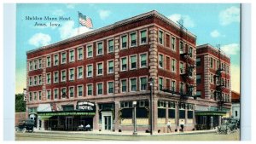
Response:
[[[119,93],[119,37],[114,37],[114,94]]]

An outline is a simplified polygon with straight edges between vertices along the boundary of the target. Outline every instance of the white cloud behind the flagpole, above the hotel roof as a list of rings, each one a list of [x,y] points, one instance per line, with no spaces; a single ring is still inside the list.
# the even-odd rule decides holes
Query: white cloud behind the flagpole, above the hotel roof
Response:
[[[59,28],[61,39],[66,39],[78,35],[78,27],[75,27],[74,24],[75,23],[73,20],[67,21],[63,24],[63,26],[61,26],[61,28]],[[93,29],[89,29],[85,26],[80,26],[79,34],[82,34],[84,32],[90,32],[92,30]]]

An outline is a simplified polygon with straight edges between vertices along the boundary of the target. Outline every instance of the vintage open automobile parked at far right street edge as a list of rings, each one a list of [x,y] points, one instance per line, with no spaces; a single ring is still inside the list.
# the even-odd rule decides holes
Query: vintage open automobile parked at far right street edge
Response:
[[[224,133],[229,135],[231,132],[238,130],[238,124],[239,121],[237,119],[228,118],[224,124],[218,126],[216,132],[217,134]]]

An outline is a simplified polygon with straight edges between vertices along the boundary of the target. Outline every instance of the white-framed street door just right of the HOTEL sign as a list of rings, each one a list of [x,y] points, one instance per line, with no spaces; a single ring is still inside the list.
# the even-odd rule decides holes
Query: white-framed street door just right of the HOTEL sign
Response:
[[[102,112],[102,130],[112,130],[112,112]]]

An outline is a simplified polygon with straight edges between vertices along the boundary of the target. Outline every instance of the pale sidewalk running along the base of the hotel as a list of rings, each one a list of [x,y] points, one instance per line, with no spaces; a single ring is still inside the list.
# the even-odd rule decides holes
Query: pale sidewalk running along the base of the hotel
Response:
[[[71,135],[126,135],[131,136],[133,131],[122,131],[122,132],[113,132],[113,131],[57,131],[57,130],[34,130],[35,133],[52,133],[52,134],[71,134]],[[195,131],[184,131],[184,132],[172,132],[172,133],[153,133],[151,136],[156,135],[192,135],[192,134],[206,134],[206,133],[215,133],[215,130],[195,130]],[[150,136],[150,133],[145,133],[144,131],[138,131],[137,135],[134,136]]]

